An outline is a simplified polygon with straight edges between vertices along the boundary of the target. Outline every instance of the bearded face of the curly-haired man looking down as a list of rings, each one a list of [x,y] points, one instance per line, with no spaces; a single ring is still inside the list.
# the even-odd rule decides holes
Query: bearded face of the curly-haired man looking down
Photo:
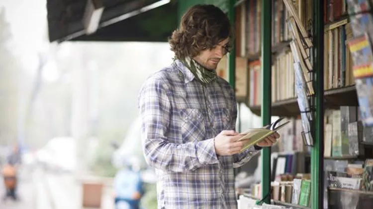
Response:
[[[201,64],[203,67],[214,70],[217,67],[220,59],[228,52],[229,38],[219,42],[211,50],[205,50],[200,52],[197,56],[193,57],[195,61]]]

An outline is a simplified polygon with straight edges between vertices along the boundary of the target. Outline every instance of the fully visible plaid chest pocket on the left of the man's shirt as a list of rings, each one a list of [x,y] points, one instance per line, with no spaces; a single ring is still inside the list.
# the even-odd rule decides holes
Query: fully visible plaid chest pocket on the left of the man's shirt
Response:
[[[195,108],[181,109],[180,118],[183,143],[205,139],[205,122],[201,110]]]

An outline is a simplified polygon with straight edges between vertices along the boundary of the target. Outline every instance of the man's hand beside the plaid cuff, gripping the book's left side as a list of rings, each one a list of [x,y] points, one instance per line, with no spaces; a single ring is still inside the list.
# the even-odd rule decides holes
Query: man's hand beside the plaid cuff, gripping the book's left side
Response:
[[[242,135],[235,131],[222,131],[215,137],[215,152],[219,156],[231,156],[241,151],[246,140],[236,142]]]

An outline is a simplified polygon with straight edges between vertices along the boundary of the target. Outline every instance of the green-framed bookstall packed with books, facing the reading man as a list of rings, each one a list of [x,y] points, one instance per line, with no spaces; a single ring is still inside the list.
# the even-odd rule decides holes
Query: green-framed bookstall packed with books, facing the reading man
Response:
[[[371,0],[191,0],[235,26],[228,80],[239,102],[287,117],[279,152],[263,149],[262,181],[239,207],[340,209],[373,205]],[[271,162],[271,163],[268,163]]]

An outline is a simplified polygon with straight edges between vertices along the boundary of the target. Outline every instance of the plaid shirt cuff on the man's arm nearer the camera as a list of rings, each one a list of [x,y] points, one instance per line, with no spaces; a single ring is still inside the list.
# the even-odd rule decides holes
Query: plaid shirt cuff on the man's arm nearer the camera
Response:
[[[219,162],[215,152],[214,141],[214,138],[212,138],[197,142],[195,148],[199,163],[206,165]]]

